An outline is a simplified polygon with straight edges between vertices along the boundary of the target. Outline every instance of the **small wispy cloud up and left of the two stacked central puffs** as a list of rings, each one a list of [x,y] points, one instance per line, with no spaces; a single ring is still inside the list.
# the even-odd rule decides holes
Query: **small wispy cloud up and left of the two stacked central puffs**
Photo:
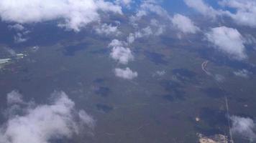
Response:
[[[106,35],[119,35],[121,32],[117,29],[117,26],[111,26],[108,24],[102,24],[100,27],[97,27],[96,29],[97,34],[106,34]]]

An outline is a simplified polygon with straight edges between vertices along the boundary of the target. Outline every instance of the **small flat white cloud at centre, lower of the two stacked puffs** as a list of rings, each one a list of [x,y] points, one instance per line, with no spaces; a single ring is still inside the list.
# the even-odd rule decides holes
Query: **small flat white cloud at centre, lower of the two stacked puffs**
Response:
[[[116,77],[120,77],[122,79],[134,79],[138,76],[138,73],[136,71],[132,71],[127,67],[126,69],[114,69],[114,73],[116,74]]]

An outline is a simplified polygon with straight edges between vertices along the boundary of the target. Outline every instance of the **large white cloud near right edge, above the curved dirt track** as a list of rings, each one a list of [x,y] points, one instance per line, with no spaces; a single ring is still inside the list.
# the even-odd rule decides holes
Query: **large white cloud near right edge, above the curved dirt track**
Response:
[[[206,33],[206,38],[215,45],[216,49],[228,54],[233,59],[247,58],[242,35],[237,29],[226,26],[216,27]]]

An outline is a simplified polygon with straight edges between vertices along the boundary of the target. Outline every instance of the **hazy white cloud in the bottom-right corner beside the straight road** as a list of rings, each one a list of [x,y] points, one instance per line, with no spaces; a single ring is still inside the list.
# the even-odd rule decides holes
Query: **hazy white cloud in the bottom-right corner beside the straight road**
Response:
[[[255,140],[255,122],[252,119],[237,116],[232,116],[230,118],[232,120],[231,131],[234,134],[239,134],[251,141]]]

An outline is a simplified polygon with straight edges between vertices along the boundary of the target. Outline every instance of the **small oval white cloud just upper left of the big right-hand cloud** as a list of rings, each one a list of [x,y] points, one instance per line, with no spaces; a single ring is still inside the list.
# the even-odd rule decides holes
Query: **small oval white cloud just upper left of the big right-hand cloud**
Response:
[[[193,21],[191,21],[191,19],[181,14],[175,14],[173,16],[172,22],[173,25],[183,33],[195,34],[196,31],[199,30],[199,28],[195,26],[195,24],[193,24]]]

